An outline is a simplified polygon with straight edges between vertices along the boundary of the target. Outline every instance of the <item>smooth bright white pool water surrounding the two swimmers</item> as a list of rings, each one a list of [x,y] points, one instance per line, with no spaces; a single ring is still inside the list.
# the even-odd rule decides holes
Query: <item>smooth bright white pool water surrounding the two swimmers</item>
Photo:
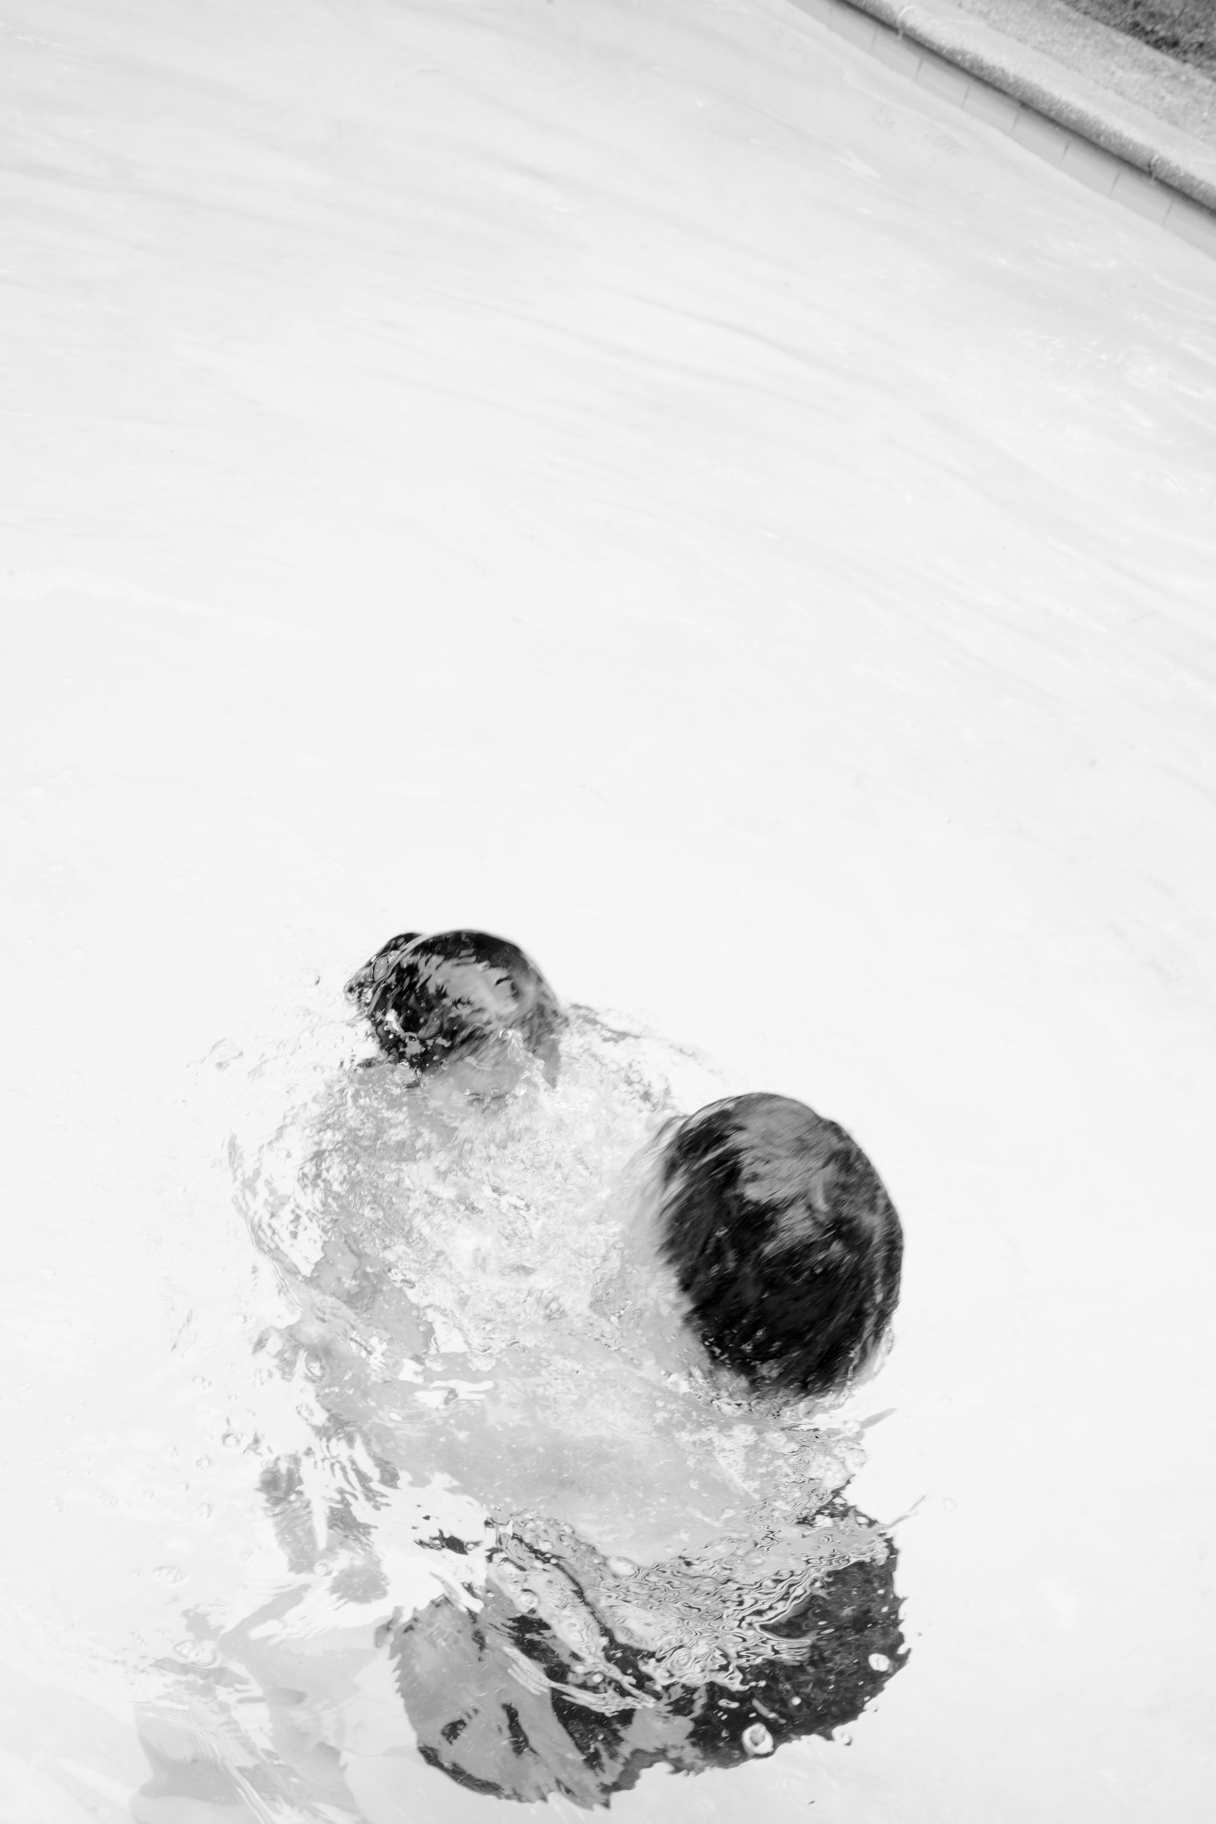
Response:
[[[1209,263],[777,0],[5,26],[0,1817],[126,1819],[148,1667],[284,1576],[206,1085],[403,923],[804,1096],[908,1229],[910,1665],[614,1808],[1203,1815]]]

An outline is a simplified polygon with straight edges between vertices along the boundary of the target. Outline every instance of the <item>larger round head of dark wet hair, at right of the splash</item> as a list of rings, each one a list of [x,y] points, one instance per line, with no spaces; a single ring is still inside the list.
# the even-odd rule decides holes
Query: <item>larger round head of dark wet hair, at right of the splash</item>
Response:
[[[844,1386],[882,1341],[902,1259],[857,1142],[788,1096],[731,1096],[673,1131],[660,1182],[662,1251],[709,1355],[757,1386]]]

